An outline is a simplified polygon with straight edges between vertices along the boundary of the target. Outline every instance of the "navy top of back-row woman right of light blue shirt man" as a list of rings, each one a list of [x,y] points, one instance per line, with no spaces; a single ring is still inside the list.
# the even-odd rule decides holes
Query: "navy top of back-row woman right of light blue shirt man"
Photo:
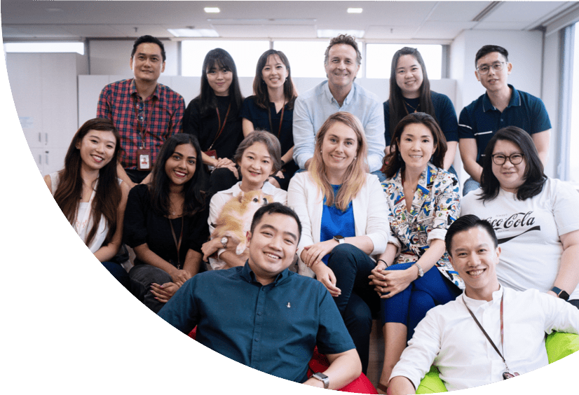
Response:
[[[454,105],[447,95],[442,93],[430,91],[430,97],[432,98],[432,105],[435,108],[435,116],[438,121],[438,125],[444,133],[444,137],[447,141],[458,141],[458,122],[456,121],[456,111],[454,111]],[[406,109],[408,113],[413,113],[414,109],[420,104],[420,98],[416,99],[406,99],[404,98],[406,104]],[[413,108],[414,107],[414,108]],[[423,111],[423,109],[418,109],[418,111]],[[384,125],[386,130],[384,132],[384,138],[386,139],[386,145],[390,145],[390,100],[384,102]]]

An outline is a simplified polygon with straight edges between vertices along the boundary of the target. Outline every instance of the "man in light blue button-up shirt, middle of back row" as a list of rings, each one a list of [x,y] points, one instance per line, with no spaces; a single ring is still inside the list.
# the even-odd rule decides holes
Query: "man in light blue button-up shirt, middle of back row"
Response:
[[[386,141],[384,110],[378,96],[354,83],[362,55],[353,36],[341,34],[329,41],[324,67],[327,81],[297,97],[294,104],[294,160],[308,169],[315,145],[315,134],[329,116],[346,111],[357,116],[368,141],[368,171],[379,176]]]

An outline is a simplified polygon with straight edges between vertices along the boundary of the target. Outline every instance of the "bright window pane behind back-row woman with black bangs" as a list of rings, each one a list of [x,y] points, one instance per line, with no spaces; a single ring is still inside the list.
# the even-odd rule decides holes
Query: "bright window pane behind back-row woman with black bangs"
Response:
[[[186,40],[181,43],[182,76],[200,77],[205,55],[214,49],[223,48],[236,62],[240,77],[255,76],[255,65],[262,53],[269,49],[269,41],[222,41]]]

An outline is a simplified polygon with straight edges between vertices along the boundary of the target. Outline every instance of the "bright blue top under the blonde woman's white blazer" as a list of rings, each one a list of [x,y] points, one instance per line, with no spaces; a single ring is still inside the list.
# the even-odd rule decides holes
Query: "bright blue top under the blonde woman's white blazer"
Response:
[[[334,188],[334,197],[338,195],[341,185],[332,185]],[[354,222],[354,209],[352,202],[348,205],[345,212],[336,206],[327,206],[326,197],[324,196],[324,206],[322,208],[322,224],[320,229],[320,242],[332,240],[334,236],[354,237],[356,235]],[[322,262],[327,265],[329,254],[322,258]]]

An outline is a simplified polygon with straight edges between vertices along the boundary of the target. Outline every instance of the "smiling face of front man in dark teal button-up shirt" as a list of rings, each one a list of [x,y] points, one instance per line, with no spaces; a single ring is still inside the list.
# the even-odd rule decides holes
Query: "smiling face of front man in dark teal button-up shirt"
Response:
[[[285,214],[264,214],[253,233],[247,233],[248,260],[258,282],[273,282],[275,276],[290,267],[297,251],[299,230],[296,220]]]

